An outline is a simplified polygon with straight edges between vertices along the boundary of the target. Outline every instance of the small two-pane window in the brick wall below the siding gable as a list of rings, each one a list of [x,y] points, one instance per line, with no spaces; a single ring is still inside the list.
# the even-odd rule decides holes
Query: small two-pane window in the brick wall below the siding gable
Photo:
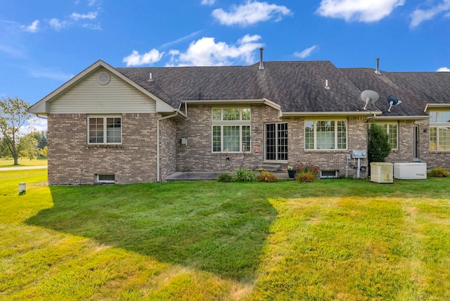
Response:
[[[122,143],[122,118],[88,117],[88,144]]]

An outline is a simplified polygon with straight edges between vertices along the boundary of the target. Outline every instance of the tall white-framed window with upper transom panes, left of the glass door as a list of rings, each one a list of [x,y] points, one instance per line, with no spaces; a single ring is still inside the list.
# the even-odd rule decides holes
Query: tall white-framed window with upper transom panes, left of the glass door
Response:
[[[212,109],[212,152],[250,152],[250,108]]]

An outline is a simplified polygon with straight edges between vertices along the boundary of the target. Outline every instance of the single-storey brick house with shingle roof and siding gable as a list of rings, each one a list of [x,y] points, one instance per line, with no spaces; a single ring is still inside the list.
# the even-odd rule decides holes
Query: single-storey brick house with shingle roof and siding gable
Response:
[[[449,168],[450,72],[375,71],[329,61],[113,68],[98,60],[29,111],[48,119],[51,185],[296,162],[318,165],[323,177],[356,175],[351,154],[367,149],[370,122],[389,134],[388,161]],[[379,100],[366,105],[366,90]],[[389,96],[401,104],[391,107]]]

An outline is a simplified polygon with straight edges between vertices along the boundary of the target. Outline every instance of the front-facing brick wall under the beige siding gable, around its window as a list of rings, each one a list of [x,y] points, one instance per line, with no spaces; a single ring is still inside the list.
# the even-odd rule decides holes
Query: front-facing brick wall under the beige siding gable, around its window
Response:
[[[156,181],[155,114],[123,114],[122,144],[88,146],[85,114],[49,115],[49,184],[94,184],[114,174],[117,184]]]

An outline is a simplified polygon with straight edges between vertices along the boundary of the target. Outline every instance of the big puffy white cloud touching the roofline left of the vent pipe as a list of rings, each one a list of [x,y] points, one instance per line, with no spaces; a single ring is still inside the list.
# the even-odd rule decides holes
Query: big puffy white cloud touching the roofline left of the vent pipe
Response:
[[[246,64],[255,63],[255,49],[262,44],[257,43],[261,37],[245,35],[236,45],[229,45],[223,41],[215,42],[212,37],[203,37],[193,41],[186,52],[171,51],[172,65],[212,66],[231,65],[231,60],[240,60]]]

